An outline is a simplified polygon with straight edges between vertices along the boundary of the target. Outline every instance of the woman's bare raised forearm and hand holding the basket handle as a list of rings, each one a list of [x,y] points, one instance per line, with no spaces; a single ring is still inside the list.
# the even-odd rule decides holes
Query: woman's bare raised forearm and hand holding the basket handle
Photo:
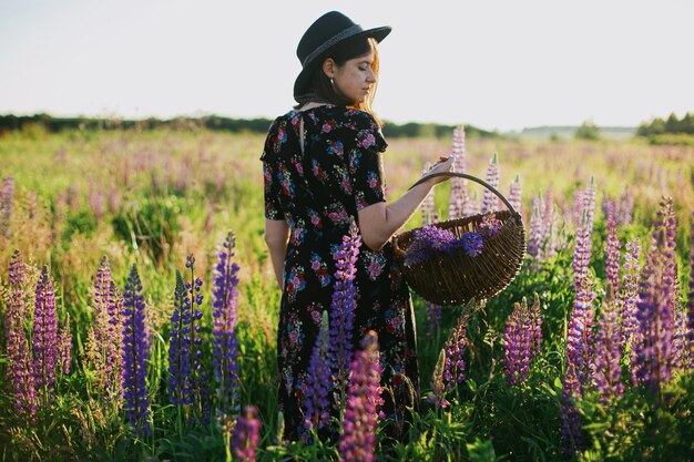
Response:
[[[452,165],[453,156],[441,157],[441,162],[437,163],[426,175],[450,172]],[[440,176],[431,178],[415,186],[391,204],[380,202],[360,209],[358,212],[359,229],[364,243],[372,250],[379,250],[407,223],[431,188],[446,179]]]

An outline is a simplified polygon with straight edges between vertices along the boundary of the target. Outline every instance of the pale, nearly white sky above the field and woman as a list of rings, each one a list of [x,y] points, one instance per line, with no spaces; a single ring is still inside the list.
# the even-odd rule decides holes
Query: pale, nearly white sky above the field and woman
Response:
[[[379,47],[396,123],[636,126],[694,112],[686,0],[0,0],[0,114],[275,117],[339,10]]]

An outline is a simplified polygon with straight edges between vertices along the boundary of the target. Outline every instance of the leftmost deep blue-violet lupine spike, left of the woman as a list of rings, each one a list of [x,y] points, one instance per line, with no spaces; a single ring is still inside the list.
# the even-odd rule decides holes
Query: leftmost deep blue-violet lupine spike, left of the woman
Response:
[[[127,423],[141,435],[152,435],[144,297],[137,266],[133,264],[123,292],[123,400]]]

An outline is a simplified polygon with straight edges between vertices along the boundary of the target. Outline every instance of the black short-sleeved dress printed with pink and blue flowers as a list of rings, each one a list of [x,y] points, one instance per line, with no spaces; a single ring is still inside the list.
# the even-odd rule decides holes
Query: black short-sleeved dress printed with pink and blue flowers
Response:
[[[290,111],[268,131],[261,156],[265,217],[286,220],[290,230],[277,331],[278,402],[286,439],[305,433],[303,386],[322,312],[330,312],[334,254],[350,223],[358,225],[357,211],[385,201],[386,146],[370,114],[338,105]],[[354,350],[368,330],[376,331],[384,366],[382,411],[392,419],[390,433],[397,437],[407,421],[406,408],[418,402],[411,300],[390,243],[380,251],[363,243],[356,268]]]

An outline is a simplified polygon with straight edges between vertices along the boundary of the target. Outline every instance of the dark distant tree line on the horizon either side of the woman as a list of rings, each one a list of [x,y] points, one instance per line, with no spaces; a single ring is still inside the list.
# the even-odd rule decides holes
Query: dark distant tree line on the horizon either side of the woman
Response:
[[[28,127],[39,127],[49,133],[58,133],[65,130],[156,130],[156,129],[207,129],[231,133],[266,133],[273,121],[271,119],[231,119],[220,115],[203,117],[175,117],[169,120],[143,119],[99,119],[99,117],[53,117],[49,114],[34,115],[0,115],[0,134],[13,131],[22,131]],[[442,125],[435,123],[410,122],[396,124],[386,121],[384,133],[388,137],[450,137],[456,125]],[[497,137],[497,132],[465,125],[468,136]]]

